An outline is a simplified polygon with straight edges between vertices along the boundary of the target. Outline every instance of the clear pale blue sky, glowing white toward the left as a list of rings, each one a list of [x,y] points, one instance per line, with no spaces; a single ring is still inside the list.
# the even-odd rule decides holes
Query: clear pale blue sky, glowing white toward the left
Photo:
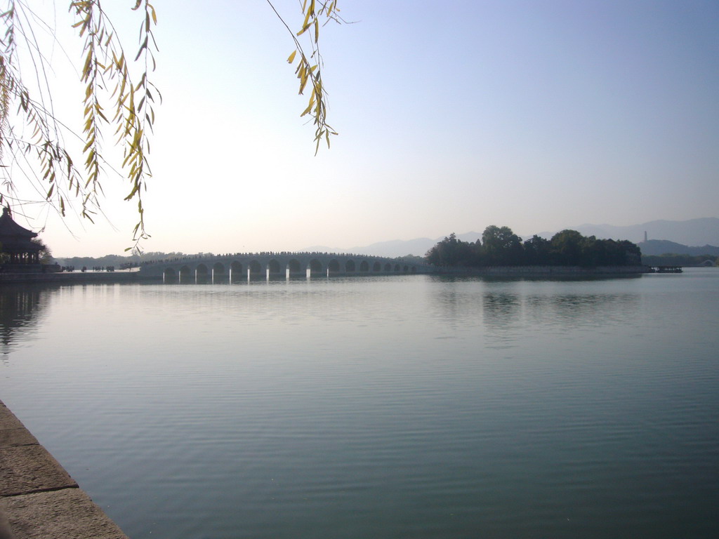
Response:
[[[58,41],[79,65],[58,3]],[[134,1],[105,4],[134,51]],[[301,26],[299,2],[274,4]],[[146,252],[350,249],[490,224],[525,236],[719,216],[716,1],[339,0],[347,24],[320,37],[339,135],[317,155],[285,61],[293,43],[265,0],[154,5],[163,99]],[[79,132],[78,68],[63,60],[58,102]],[[136,203],[122,201],[128,186],[115,175],[103,188],[96,224],[40,205],[14,215],[44,226],[56,257],[122,254]]]

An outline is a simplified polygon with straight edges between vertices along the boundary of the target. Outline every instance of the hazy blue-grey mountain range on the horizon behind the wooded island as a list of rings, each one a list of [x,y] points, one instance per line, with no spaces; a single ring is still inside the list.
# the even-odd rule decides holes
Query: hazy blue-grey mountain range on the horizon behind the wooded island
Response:
[[[631,226],[583,224],[580,226],[567,226],[567,229],[579,231],[585,236],[597,236],[597,238],[600,239],[628,239],[629,241],[639,244],[641,252],[644,254],[665,254],[667,252],[677,254],[716,254],[713,250],[707,251],[707,248],[719,249],[719,247],[713,247],[719,244],[719,218],[716,217],[690,219],[689,221],[649,221],[648,223]],[[449,236],[450,232],[451,231],[447,232],[446,235]],[[554,236],[557,232],[559,231],[544,231],[539,232],[537,236],[551,238],[551,236]],[[646,251],[644,247],[645,232],[647,239],[650,240],[646,242]],[[533,234],[530,234],[524,237],[528,238],[532,235]],[[476,241],[481,237],[481,232],[457,234],[457,239],[461,239],[462,241]],[[365,247],[352,247],[352,249],[316,246],[308,247],[307,250],[372,254],[375,257],[403,257],[408,254],[423,257],[429,249],[434,247],[434,245],[442,239],[444,239],[444,236],[434,239],[416,238],[406,241],[395,239],[391,241],[380,241],[375,244],[366,245]],[[652,241],[660,239],[667,240],[666,242],[661,242],[663,247],[660,246],[660,244],[652,243]],[[682,250],[654,252],[655,249],[661,250],[669,247],[671,244],[676,246],[672,247],[672,249]],[[687,247],[690,245],[703,245],[706,247]]]

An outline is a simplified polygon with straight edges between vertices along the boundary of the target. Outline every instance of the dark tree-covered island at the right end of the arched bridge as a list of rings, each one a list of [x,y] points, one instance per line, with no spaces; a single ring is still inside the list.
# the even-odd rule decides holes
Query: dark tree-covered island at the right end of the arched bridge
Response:
[[[449,234],[425,255],[437,267],[490,266],[638,266],[641,250],[631,241],[582,236],[563,230],[551,239],[532,236],[526,241],[508,226],[487,226],[474,243]]]

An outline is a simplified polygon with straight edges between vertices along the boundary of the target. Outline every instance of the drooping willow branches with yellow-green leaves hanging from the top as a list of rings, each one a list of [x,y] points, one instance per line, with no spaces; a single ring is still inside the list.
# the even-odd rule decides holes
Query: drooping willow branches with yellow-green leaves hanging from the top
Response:
[[[267,3],[276,14],[272,2]],[[142,193],[152,176],[150,134],[155,123],[154,107],[161,101],[160,91],[151,80],[157,52],[152,31],[157,13],[150,0],[129,2],[128,6],[137,12],[140,32],[137,48],[128,55],[101,0],[70,0],[68,4],[71,24],[83,40],[82,129],[68,128],[55,114],[53,91],[45,73],[56,69],[46,52],[56,44],[51,42],[45,47],[38,38],[42,34],[54,35],[52,26],[29,3],[4,0],[0,9],[0,167],[3,171],[22,172],[42,201],[60,215],[65,216],[70,204],[78,203],[77,213],[93,221],[101,211],[99,196],[105,172],[113,167],[106,161],[102,144],[104,135],[110,134],[122,147],[119,168],[129,183],[124,200],[137,203],[138,221],[133,231],[137,242],[147,237]],[[278,17],[295,46],[288,61],[297,64],[299,91],[311,90],[301,115],[313,118],[317,151],[321,141],[329,146],[330,135],[336,134],[326,121],[319,29],[329,21],[342,19],[336,0],[305,0],[301,9],[303,22],[298,32],[293,32],[279,14]],[[308,38],[308,52],[301,45],[302,36]],[[23,73],[21,57],[35,73]],[[80,155],[65,144],[75,135],[83,140]],[[21,203],[14,178],[5,172],[1,180],[0,205]]]

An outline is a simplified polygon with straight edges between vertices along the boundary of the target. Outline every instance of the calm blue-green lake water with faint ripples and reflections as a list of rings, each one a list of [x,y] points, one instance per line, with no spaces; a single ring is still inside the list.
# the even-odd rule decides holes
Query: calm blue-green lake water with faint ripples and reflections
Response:
[[[0,399],[132,538],[718,536],[716,269],[0,307]]]

